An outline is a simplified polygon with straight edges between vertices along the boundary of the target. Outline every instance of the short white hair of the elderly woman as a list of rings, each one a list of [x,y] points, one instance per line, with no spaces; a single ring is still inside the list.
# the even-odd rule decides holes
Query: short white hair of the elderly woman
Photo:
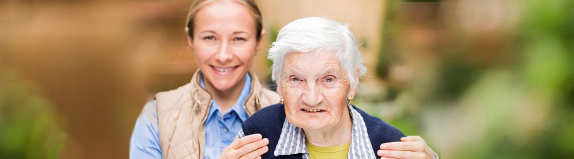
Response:
[[[359,47],[355,42],[349,24],[340,24],[326,17],[301,18],[285,25],[269,49],[267,59],[273,61],[272,79],[280,82],[285,56],[293,52],[316,52],[333,50],[341,67],[347,72],[351,86],[358,85],[358,79],[367,68]],[[359,71],[359,72],[356,72]],[[358,73],[358,74],[357,74]],[[356,76],[359,77],[356,77]]]

